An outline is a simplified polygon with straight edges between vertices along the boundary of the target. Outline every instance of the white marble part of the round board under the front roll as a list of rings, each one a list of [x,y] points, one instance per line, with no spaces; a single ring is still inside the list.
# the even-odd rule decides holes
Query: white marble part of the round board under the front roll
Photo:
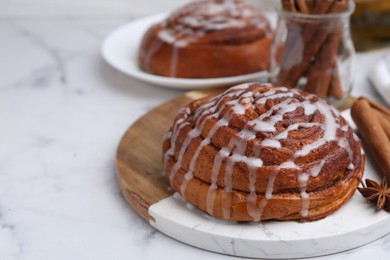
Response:
[[[343,112],[347,120],[349,113]],[[366,158],[363,179],[380,180],[371,159]],[[333,254],[370,243],[390,232],[390,214],[376,212],[357,191],[332,215],[304,224],[216,220],[178,194],[153,204],[149,214],[152,226],[184,243],[227,255],[267,259]]]

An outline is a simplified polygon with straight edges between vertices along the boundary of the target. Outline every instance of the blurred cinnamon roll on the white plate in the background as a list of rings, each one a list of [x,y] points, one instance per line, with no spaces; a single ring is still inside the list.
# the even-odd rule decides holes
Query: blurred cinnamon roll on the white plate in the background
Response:
[[[177,78],[215,78],[267,70],[272,32],[243,0],[195,1],[153,25],[139,50],[140,67]]]

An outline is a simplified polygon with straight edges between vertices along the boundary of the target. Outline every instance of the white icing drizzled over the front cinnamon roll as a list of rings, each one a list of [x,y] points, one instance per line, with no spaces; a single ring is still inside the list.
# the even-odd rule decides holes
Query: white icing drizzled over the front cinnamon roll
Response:
[[[208,189],[206,208],[207,212],[210,215],[214,213],[214,204],[216,199],[216,192],[218,188],[218,177],[219,174],[223,174],[223,193],[222,193],[222,214],[225,219],[228,219],[231,214],[231,206],[232,206],[232,191],[233,191],[233,183],[232,183],[232,175],[233,170],[238,162],[242,162],[247,165],[249,171],[249,193],[247,195],[247,212],[253,218],[254,221],[261,220],[262,212],[266,207],[269,200],[273,197],[273,189],[274,189],[274,181],[276,179],[277,174],[281,169],[295,169],[298,171],[298,183],[300,187],[300,196],[302,200],[302,208],[300,214],[302,217],[307,217],[309,215],[310,208],[310,196],[306,191],[307,182],[310,178],[317,177],[322,168],[324,167],[326,161],[321,159],[317,164],[312,166],[306,172],[302,170],[302,168],[295,164],[294,160],[308,155],[311,151],[318,149],[322,145],[327,142],[336,141],[338,146],[342,147],[348,152],[350,165],[348,165],[348,169],[352,170],[354,165],[352,163],[353,152],[350,148],[348,140],[345,137],[338,137],[337,130],[341,129],[343,132],[348,132],[349,127],[342,126],[340,127],[340,122],[338,120],[339,113],[334,109],[330,108],[323,101],[318,100],[316,102],[310,101],[312,99],[312,95],[303,96],[304,100],[298,102],[294,99],[295,94],[299,94],[299,91],[288,90],[283,87],[279,88],[270,88],[269,90],[259,93],[249,91],[247,88],[251,84],[241,84],[239,86],[233,87],[228,90],[226,93],[221,94],[219,96],[214,97],[208,102],[204,103],[198,108],[198,122],[200,122],[200,126],[197,128],[193,128],[188,132],[184,142],[181,145],[178,158],[176,163],[173,165],[172,170],[170,172],[170,181],[174,179],[177,171],[180,169],[184,154],[189,146],[189,144],[195,138],[199,137],[202,133],[204,125],[209,119],[217,119],[216,123],[209,130],[208,134],[198,145],[194,155],[191,158],[189,167],[187,172],[184,174],[184,180],[180,186],[180,193],[185,196],[185,191],[187,189],[187,184],[193,178],[193,171],[195,169],[195,165],[199,155],[202,153],[202,150],[205,146],[211,143],[212,137],[216,134],[216,132],[224,126],[229,125],[230,120],[233,116],[236,115],[244,115],[246,111],[252,108],[252,104],[262,104],[264,105],[268,99],[279,99],[282,101],[278,104],[275,104],[269,111],[261,114],[259,117],[250,120],[246,123],[246,125],[239,131],[235,136],[233,136],[227,147],[222,147],[216,156],[214,157],[213,167],[211,170],[211,183]],[[267,86],[267,85],[262,85]],[[223,101],[226,101],[222,103]],[[222,104],[222,105],[221,105]],[[228,108],[228,112],[226,112],[222,118],[220,118],[220,111],[224,111]],[[276,166],[273,172],[270,174],[268,178],[267,188],[264,194],[263,199],[258,201],[258,196],[256,194],[256,177],[257,177],[257,169],[263,166],[263,161],[258,157],[249,157],[247,154],[247,143],[248,140],[256,138],[257,132],[276,132],[275,124],[283,120],[283,117],[286,113],[296,111],[298,108],[304,109],[304,114],[307,116],[313,115],[316,111],[319,111],[323,116],[323,122],[298,122],[293,123],[287,126],[285,130],[280,133],[277,133],[273,137],[265,138],[261,141],[261,147],[271,147],[275,149],[282,148],[282,143],[280,140],[288,138],[288,133],[293,130],[297,130],[300,127],[303,128],[311,128],[311,127],[321,127],[323,130],[323,135],[318,140],[311,142],[309,144],[304,145],[301,149],[295,151],[295,153],[285,162]],[[173,127],[173,134],[167,134],[166,138],[171,138],[171,148],[165,154],[165,160],[169,156],[173,155],[174,144],[177,139],[178,132],[182,130],[182,128],[187,125],[186,119],[190,115],[189,110],[181,111],[182,117],[176,121],[175,126]],[[219,120],[218,120],[219,118]],[[253,148],[252,148],[253,149]],[[261,152],[261,148],[259,151],[252,150],[252,154],[258,154]],[[221,166],[225,163],[225,169],[221,172]]]

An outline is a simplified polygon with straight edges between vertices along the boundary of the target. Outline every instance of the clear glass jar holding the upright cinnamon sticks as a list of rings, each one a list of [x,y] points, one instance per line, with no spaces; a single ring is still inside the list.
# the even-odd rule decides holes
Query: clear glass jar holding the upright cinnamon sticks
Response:
[[[278,22],[271,48],[273,81],[301,88],[340,108],[353,83],[355,49],[350,34],[350,1],[345,10],[302,14],[283,10],[276,1]]]

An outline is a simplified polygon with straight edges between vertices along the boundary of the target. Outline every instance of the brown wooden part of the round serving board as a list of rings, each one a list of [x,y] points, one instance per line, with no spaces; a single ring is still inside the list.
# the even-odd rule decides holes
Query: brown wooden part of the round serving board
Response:
[[[162,173],[162,140],[177,111],[190,101],[223,91],[191,91],[139,118],[122,137],[116,154],[119,186],[130,206],[146,221],[151,205],[173,194]]]

